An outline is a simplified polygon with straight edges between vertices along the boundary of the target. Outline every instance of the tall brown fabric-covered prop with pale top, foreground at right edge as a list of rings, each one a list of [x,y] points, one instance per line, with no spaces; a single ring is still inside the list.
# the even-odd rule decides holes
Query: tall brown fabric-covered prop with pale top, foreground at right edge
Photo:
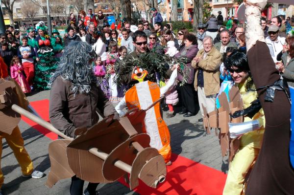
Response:
[[[294,170],[289,157],[291,103],[287,83],[275,68],[260,25],[261,10],[266,4],[267,0],[246,1],[248,65],[265,113],[266,128],[245,195],[294,195]]]

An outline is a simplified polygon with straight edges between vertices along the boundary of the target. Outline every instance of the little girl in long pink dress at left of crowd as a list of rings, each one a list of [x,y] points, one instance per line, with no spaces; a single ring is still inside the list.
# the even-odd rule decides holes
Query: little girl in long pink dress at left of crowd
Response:
[[[21,86],[24,93],[29,93],[31,92],[31,89],[22,71],[24,71],[24,66],[21,63],[21,60],[17,56],[14,56],[11,60],[10,65],[11,78],[16,80],[16,82]]]

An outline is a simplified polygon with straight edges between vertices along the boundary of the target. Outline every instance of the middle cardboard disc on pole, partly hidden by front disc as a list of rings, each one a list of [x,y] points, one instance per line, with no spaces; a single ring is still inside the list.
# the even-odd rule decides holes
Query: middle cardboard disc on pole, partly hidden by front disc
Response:
[[[133,161],[132,171],[130,174],[130,190],[133,190],[139,185],[139,173],[141,169],[151,158],[158,156],[159,153],[155,148],[145,148],[142,152],[138,153],[137,157]]]

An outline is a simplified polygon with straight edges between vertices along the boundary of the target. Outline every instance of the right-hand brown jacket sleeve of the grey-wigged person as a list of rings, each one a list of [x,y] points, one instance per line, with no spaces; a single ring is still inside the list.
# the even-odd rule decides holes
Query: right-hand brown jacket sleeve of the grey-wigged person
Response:
[[[101,88],[98,87],[98,89],[99,89],[99,94],[98,94],[97,108],[99,109],[99,111],[103,113],[104,117],[114,114],[114,119],[119,118],[119,114],[114,108],[114,106],[112,105],[112,103],[105,97]]]

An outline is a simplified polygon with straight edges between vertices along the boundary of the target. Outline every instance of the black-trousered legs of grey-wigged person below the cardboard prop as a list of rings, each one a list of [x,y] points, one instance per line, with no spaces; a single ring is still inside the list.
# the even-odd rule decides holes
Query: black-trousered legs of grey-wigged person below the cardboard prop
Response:
[[[76,177],[75,175],[72,177],[72,183],[70,187],[71,195],[83,195],[83,187],[84,180]],[[99,183],[89,183],[87,187],[87,191],[90,195],[96,195],[96,188]]]

